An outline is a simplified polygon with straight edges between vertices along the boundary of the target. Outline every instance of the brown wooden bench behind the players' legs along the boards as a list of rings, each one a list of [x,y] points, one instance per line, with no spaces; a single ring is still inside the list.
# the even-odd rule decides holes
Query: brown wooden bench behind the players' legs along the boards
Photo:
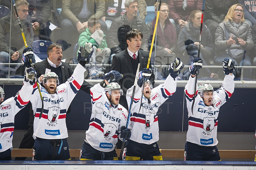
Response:
[[[69,149],[70,158],[79,158],[81,149]],[[184,158],[184,150],[167,150],[160,149],[163,158]],[[12,157],[33,157],[32,149],[13,149]],[[120,149],[116,149],[116,153],[120,155]],[[234,159],[253,159],[256,151],[242,151],[242,150],[219,150],[220,158],[234,158]]]

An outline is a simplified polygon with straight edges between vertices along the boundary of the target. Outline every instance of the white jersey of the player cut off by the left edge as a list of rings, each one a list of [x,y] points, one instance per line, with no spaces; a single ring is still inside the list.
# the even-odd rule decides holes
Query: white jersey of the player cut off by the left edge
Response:
[[[14,116],[28,104],[33,89],[37,89],[36,84],[32,86],[28,82],[24,82],[15,97],[8,98],[0,105],[0,152],[10,148],[12,150]]]

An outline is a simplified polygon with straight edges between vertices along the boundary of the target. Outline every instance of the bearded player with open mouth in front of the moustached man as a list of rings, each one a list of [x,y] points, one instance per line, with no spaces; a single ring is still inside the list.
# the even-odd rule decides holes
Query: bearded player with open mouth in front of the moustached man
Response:
[[[34,111],[33,160],[67,160],[70,159],[68,148],[68,130],[66,126],[66,112],[78,90],[84,82],[85,64],[92,56],[91,43],[80,47],[79,63],[72,76],[63,84],[59,84],[58,75],[54,72],[46,73],[43,77],[43,87],[40,91],[43,96],[44,110],[41,119],[42,107],[38,90],[34,90],[30,102]],[[26,63],[27,56],[23,63]]]

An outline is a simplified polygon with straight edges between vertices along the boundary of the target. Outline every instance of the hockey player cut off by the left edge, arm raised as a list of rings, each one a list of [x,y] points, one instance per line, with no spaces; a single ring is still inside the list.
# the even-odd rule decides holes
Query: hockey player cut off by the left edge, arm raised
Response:
[[[0,160],[11,160],[12,136],[14,130],[14,116],[23,109],[29,102],[35,84],[36,71],[33,68],[27,68],[25,80],[22,88],[15,97],[4,101],[4,89],[0,87]]]

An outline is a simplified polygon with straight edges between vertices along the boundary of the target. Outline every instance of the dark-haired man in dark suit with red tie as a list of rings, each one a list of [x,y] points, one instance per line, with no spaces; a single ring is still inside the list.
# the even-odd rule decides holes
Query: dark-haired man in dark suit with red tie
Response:
[[[140,50],[142,38],[143,34],[139,30],[134,29],[129,31],[125,36],[128,48],[114,55],[112,61],[111,70],[116,70],[124,76],[124,78],[119,81],[124,92],[124,95],[120,97],[119,103],[127,110],[129,110],[129,108],[125,97],[126,91],[134,84],[138,64],[140,63],[140,71],[142,68],[146,68],[148,64],[148,52]],[[151,62],[149,63],[149,68],[152,69]],[[153,86],[155,83],[154,80],[155,75],[152,73],[149,81]]]

